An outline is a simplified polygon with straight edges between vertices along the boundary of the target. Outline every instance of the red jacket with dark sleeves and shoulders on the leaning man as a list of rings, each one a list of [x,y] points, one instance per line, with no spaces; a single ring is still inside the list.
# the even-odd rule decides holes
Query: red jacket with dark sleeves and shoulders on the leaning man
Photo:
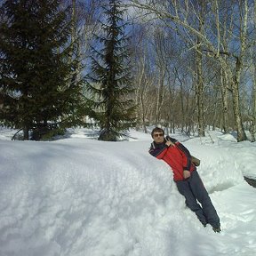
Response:
[[[157,159],[163,159],[164,162],[172,167],[173,180],[184,180],[183,171],[193,172],[196,170],[196,165],[191,162],[188,148],[185,148],[178,140],[171,137],[167,136],[166,139],[171,140],[174,146],[168,147],[165,145],[165,139],[163,143],[153,141],[149,153]]]

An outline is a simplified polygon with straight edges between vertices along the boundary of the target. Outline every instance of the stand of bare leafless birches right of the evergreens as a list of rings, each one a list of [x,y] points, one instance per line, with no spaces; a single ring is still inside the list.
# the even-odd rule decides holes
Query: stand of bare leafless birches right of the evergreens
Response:
[[[256,4],[137,1],[140,120],[204,136],[207,125],[255,141]],[[150,99],[151,97],[151,99]]]

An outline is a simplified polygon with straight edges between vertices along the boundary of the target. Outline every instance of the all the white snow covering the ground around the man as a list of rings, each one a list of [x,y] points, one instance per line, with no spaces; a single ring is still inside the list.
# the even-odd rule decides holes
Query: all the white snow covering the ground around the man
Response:
[[[222,232],[204,228],[184,202],[167,164],[148,154],[149,134],[129,141],[68,138],[12,141],[0,130],[1,256],[254,256],[256,144],[232,134],[172,134],[201,159],[198,172]]]

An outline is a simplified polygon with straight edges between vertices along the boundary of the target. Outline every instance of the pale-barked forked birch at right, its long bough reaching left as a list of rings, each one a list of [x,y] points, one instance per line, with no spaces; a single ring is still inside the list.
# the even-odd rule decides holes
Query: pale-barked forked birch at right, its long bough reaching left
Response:
[[[187,3],[187,4],[186,4]],[[210,3],[210,2],[209,2]],[[218,10],[218,3],[215,1],[215,12]],[[131,0],[131,5],[133,7],[140,8],[140,10],[146,10],[151,17],[154,17],[154,19],[160,19],[163,20],[164,25],[166,27],[172,28],[173,30],[177,31],[177,33],[183,34],[184,37],[191,36],[191,42],[193,37],[196,36],[204,44],[204,49],[209,53],[209,57],[214,58],[215,60],[218,60],[220,63],[221,68],[227,72],[227,83],[228,81],[232,85],[232,92],[233,92],[233,109],[234,109],[234,116],[236,120],[236,131],[237,131],[237,141],[246,140],[245,132],[244,132],[244,126],[242,122],[242,114],[240,109],[240,102],[239,102],[239,87],[240,87],[240,77],[241,72],[243,69],[244,64],[244,52],[245,52],[245,45],[247,40],[247,16],[248,16],[248,3],[247,0],[244,0],[244,4],[239,5],[239,8],[241,8],[240,14],[243,16],[243,19],[240,22],[240,51],[239,55],[236,56],[233,52],[220,52],[220,28],[217,35],[215,35],[214,40],[212,40],[212,35],[207,36],[203,31],[200,31],[200,29],[196,28],[195,24],[188,22],[188,16],[189,13],[193,13],[193,15],[196,17],[196,19],[200,20],[200,16],[198,12],[196,11],[195,6],[193,5],[193,2],[191,1],[185,1],[185,4],[183,2],[179,1],[172,1],[172,2],[164,2],[163,1],[146,1],[141,2],[139,0]],[[174,8],[173,13],[171,13],[169,10],[165,8],[166,4],[172,4],[172,7]],[[183,5],[182,5],[183,4]],[[238,1],[236,4],[239,4]],[[243,12],[242,12],[243,9]],[[219,13],[215,13],[215,22],[217,22],[217,28],[220,25],[219,20]],[[182,28],[182,29],[181,29]],[[185,32],[184,32],[185,31]],[[217,29],[218,31],[218,29]],[[230,31],[229,31],[230,32]],[[184,34],[185,33],[185,34]],[[217,40],[217,45],[216,45]],[[235,58],[236,60],[236,68],[234,68],[234,61],[227,61],[226,57],[229,56],[230,58]]]

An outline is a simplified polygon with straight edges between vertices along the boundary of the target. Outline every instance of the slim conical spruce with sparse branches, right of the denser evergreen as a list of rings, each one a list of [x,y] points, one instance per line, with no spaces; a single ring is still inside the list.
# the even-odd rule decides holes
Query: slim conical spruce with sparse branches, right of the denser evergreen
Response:
[[[129,66],[129,37],[120,1],[109,0],[103,6],[102,35],[95,36],[92,47],[92,73],[88,79],[91,92],[91,116],[100,124],[99,140],[116,141],[135,123],[132,78]]]

